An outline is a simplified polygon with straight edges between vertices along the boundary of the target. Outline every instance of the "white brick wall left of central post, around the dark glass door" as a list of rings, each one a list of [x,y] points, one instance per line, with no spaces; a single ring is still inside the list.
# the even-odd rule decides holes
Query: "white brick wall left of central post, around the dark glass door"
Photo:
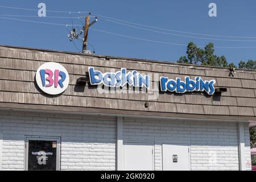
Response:
[[[24,169],[25,135],[61,137],[61,170],[115,170],[116,118],[0,111],[2,169]]]

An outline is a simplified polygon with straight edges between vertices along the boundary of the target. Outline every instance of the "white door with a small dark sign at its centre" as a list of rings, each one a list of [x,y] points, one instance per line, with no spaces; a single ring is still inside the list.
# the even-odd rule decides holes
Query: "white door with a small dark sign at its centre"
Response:
[[[177,156],[177,162],[174,162],[174,155]],[[188,144],[163,144],[163,170],[188,171],[189,169]]]

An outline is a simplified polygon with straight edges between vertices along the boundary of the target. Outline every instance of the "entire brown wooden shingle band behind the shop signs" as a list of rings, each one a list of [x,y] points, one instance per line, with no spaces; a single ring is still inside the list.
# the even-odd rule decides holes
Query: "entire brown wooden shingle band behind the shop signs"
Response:
[[[40,65],[54,61],[69,73],[69,86],[59,96],[42,93],[35,83]],[[127,71],[150,75],[151,89],[134,93],[133,88],[98,90],[89,85],[76,85],[85,77],[88,67],[104,72]],[[175,79],[216,80],[215,88],[225,87],[221,96],[203,92],[159,92],[159,77]],[[237,115],[256,117],[256,71],[236,69],[234,77],[228,68],[201,67],[156,61],[123,59],[96,55],[42,51],[0,46],[0,102],[32,105],[74,106],[114,110],[147,111],[150,113],[182,113],[198,115]],[[129,89],[129,90],[127,90]],[[148,102],[148,107],[145,103]],[[0,103],[1,106],[1,103]]]

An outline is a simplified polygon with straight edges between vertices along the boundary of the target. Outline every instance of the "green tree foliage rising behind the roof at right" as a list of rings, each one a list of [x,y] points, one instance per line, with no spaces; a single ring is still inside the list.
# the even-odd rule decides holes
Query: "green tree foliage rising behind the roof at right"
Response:
[[[213,43],[208,43],[204,49],[199,48],[193,42],[189,42],[187,46],[187,56],[181,56],[177,63],[210,65],[214,67],[230,67],[237,68],[234,63],[228,64],[225,56],[214,55]],[[256,69],[256,60],[240,61],[239,68]]]

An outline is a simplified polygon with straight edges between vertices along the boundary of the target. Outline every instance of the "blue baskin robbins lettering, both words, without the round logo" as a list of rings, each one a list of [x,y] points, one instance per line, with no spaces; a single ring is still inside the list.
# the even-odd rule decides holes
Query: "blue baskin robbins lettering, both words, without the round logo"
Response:
[[[102,73],[94,70],[94,67],[89,67],[89,77],[91,85],[100,85],[103,83],[110,87],[120,87],[126,84],[130,86],[146,87],[150,89],[150,76],[143,76],[138,71],[127,72],[126,68],[121,68],[121,71],[115,73]],[[207,92],[212,95],[215,91],[214,84],[215,80],[205,81],[201,77],[195,77],[195,80],[185,77],[182,81],[181,78],[177,77],[175,80],[169,79],[168,77],[160,77],[160,91],[162,92]]]

